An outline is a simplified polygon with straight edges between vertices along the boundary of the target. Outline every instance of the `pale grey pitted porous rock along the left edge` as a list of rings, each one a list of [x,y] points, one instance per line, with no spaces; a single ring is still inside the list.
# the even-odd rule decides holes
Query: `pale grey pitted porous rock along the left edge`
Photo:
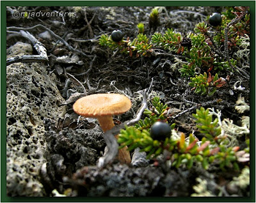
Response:
[[[10,56],[31,54],[32,47],[16,43]],[[8,56],[8,57],[10,57]],[[65,114],[65,100],[42,63],[13,63],[6,67],[6,190],[8,196],[43,196],[39,169],[45,161],[44,119]]]

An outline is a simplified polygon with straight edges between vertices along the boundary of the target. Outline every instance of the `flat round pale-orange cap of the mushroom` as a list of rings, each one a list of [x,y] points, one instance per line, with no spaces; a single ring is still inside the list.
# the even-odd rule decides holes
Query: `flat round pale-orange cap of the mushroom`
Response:
[[[90,94],[79,98],[73,109],[84,117],[100,117],[122,114],[131,105],[131,100],[122,94]]]

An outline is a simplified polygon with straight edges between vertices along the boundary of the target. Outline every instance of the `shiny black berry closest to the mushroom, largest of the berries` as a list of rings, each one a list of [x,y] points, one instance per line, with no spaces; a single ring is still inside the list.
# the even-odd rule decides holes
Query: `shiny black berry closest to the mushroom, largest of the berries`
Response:
[[[168,123],[157,121],[150,128],[150,136],[154,140],[165,140],[166,137],[170,137],[171,127]]]

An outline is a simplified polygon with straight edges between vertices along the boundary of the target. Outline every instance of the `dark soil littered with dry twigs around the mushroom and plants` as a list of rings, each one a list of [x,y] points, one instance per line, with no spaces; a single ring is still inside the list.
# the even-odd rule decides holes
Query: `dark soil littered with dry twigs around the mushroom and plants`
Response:
[[[141,105],[141,101],[136,100],[136,95],[147,89],[152,79],[154,81],[152,91],[161,96],[163,103],[167,103],[173,109],[179,109],[180,112],[195,105],[198,108],[203,105],[205,109],[221,110],[221,119],[228,118],[234,124],[241,125],[241,114],[234,109],[237,98],[242,94],[245,102],[250,103],[250,80],[237,73],[234,73],[227,84],[219,88],[213,96],[201,96],[195,94],[195,91],[189,87],[189,79],[180,76],[181,64],[175,68],[172,66],[177,63],[176,59],[185,61],[181,54],[156,49],[147,57],[136,57],[120,52],[114,53],[113,50],[99,45],[101,34],[110,35],[116,29],[120,29],[125,38],[134,39],[138,34],[136,25],[140,22],[145,24],[145,34],[149,37],[155,32],[164,33],[167,28],[172,28],[186,36],[189,32],[193,32],[198,22],[205,20],[203,15],[206,17],[211,13],[225,10],[224,7],[219,6],[159,7],[160,24],[155,29],[150,29],[148,17],[152,8],[154,7],[12,7],[11,10],[19,12],[56,10],[76,13],[76,17],[40,16],[19,20],[12,17],[10,10],[7,12],[7,27],[33,27],[42,24],[66,40],[75,50],[84,53],[68,50],[67,46],[51,34],[44,33],[45,30],[42,28],[29,30],[29,33],[47,49],[49,57],[47,72],[49,75],[56,75],[54,82],[66,100],[62,105],[67,107],[65,117],[60,117],[58,120],[45,117],[47,165],[46,171],[40,174],[45,197],[52,196],[54,189],[60,194],[65,193],[73,197],[190,197],[195,193],[193,186],[198,184],[197,177],[207,180],[205,190],[212,195],[218,196],[223,191],[225,191],[223,196],[250,195],[248,187],[228,188],[228,183],[233,177],[238,176],[239,172],[232,170],[223,172],[216,166],[210,167],[209,170],[204,170],[198,165],[189,170],[186,167],[175,169],[160,158],[157,164],[155,160],[150,160],[143,166],[124,165],[114,161],[103,169],[97,167],[97,160],[104,153],[106,146],[102,138],[103,133],[97,121],[83,119],[74,114],[72,110],[74,100],[68,100],[68,96],[84,91],[81,84],[68,77],[67,73],[83,84],[86,94],[122,93],[133,99],[132,109],[122,116],[116,116],[115,124],[124,123],[135,116]],[[173,15],[173,19],[169,18],[167,14],[175,11],[184,12]],[[7,48],[17,41],[29,43],[24,38],[12,36],[7,40]],[[223,51],[224,47],[220,49]],[[230,50],[230,56],[232,51],[234,50]],[[250,75],[250,70],[245,69],[245,71]],[[219,73],[219,77],[226,78],[227,73],[223,71]],[[67,79],[71,82],[68,83]],[[245,90],[233,88],[237,80],[241,81],[241,86],[245,87]],[[200,133],[196,132],[192,113],[195,113],[195,109],[177,117],[173,122],[186,136],[195,130],[195,135],[201,139]],[[244,116],[250,116],[249,112]],[[84,134],[86,137],[83,136]],[[243,144],[244,142],[241,141],[241,147]]]

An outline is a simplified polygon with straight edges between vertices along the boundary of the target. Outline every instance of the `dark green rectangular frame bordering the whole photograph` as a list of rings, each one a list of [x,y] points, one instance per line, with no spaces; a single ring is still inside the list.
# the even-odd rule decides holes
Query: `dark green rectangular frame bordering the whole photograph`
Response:
[[[250,6],[251,197],[7,197],[6,196],[6,6]],[[255,202],[255,1],[1,1],[1,202]]]

